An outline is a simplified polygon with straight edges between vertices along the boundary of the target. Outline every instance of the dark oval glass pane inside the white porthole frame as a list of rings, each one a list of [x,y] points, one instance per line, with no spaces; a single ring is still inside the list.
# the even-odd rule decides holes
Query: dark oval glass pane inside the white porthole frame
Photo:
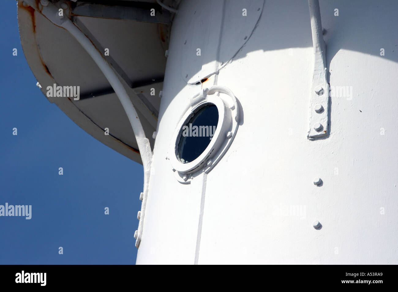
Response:
[[[197,159],[207,148],[217,129],[219,111],[215,104],[206,104],[181,129],[177,157],[182,163]]]

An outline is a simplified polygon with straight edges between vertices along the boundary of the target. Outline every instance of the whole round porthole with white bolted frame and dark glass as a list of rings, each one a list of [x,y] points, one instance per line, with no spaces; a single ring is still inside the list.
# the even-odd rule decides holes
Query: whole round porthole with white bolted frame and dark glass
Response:
[[[238,120],[236,97],[226,87],[214,85],[190,99],[167,157],[179,182],[189,183],[214,168],[232,143]]]

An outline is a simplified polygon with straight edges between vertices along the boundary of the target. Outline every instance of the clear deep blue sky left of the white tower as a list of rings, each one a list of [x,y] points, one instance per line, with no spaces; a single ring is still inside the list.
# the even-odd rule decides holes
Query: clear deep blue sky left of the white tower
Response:
[[[30,220],[0,217],[0,264],[135,264],[142,165],[45,98],[23,55],[16,1],[0,7],[0,205],[32,205]]]

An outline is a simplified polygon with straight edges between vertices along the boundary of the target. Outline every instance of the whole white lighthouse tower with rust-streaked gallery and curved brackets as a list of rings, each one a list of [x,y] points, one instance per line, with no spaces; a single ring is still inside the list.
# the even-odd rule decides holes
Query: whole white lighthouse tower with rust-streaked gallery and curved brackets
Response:
[[[18,6],[43,94],[144,165],[138,264],[398,263],[398,2]]]

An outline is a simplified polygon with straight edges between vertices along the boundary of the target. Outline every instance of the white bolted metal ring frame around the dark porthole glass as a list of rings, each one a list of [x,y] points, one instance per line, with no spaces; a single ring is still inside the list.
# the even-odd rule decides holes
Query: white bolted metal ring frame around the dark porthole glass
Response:
[[[217,95],[217,93],[220,93]],[[214,104],[219,111],[216,131],[206,149],[195,160],[183,163],[178,159],[178,145],[183,126],[204,106]],[[168,159],[174,176],[182,184],[189,184],[199,174],[209,173],[230,147],[239,126],[239,107],[235,95],[225,86],[213,85],[195,94],[180,118],[172,136]]]

